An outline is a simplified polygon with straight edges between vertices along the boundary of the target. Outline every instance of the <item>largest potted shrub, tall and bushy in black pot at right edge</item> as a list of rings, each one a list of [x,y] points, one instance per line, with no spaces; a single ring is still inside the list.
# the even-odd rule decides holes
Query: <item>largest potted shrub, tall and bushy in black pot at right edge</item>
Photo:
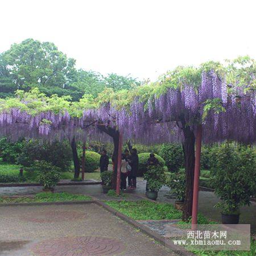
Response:
[[[223,224],[238,224],[240,207],[250,205],[255,193],[255,151],[232,143],[222,144],[216,154],[211,170],[215,193],[221,202]]]

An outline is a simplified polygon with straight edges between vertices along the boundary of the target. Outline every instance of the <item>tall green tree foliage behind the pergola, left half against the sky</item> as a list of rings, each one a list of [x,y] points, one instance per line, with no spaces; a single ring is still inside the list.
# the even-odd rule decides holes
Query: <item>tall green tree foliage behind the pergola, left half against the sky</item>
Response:
[[[71,96],[79,101],[83,94],[97,94],[105,88],[114,92],[131,89],[139,82],[130,76],[77,70],[76,61],[59,51],[55,44],[26,39],[13,44],[0,54],[0,97],[14,94],[16,89],[30,90],[38,87],[47,96]]]

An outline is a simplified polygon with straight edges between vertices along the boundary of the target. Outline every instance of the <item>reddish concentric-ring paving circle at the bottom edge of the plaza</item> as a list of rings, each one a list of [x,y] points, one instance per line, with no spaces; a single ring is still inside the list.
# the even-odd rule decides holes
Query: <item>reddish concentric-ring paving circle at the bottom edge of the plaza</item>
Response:
[[[124,249],[122,242],[105,237],[65,237],[39,242],[31,248],[41,256],[115,255]]]

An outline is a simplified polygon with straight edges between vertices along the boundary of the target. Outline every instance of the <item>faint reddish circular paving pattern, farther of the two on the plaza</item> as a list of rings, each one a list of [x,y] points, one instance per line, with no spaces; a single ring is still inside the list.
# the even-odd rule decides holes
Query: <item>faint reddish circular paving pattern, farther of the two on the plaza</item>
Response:
[[[28,213],[26,216],[20,216],[20,220],[37,222],[37,223],[52,223],[70,220],[79,220],[85,218],[84,213],[76,212],[75,210],[46,210],[43,212]]]

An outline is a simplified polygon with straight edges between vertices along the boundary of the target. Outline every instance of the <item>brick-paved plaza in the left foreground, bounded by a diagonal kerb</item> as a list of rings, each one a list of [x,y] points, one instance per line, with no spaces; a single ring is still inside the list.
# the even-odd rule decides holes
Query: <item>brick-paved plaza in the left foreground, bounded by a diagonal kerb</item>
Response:
[[[0,255],[175,255],[96,204],[2,207],[0,226]]]

